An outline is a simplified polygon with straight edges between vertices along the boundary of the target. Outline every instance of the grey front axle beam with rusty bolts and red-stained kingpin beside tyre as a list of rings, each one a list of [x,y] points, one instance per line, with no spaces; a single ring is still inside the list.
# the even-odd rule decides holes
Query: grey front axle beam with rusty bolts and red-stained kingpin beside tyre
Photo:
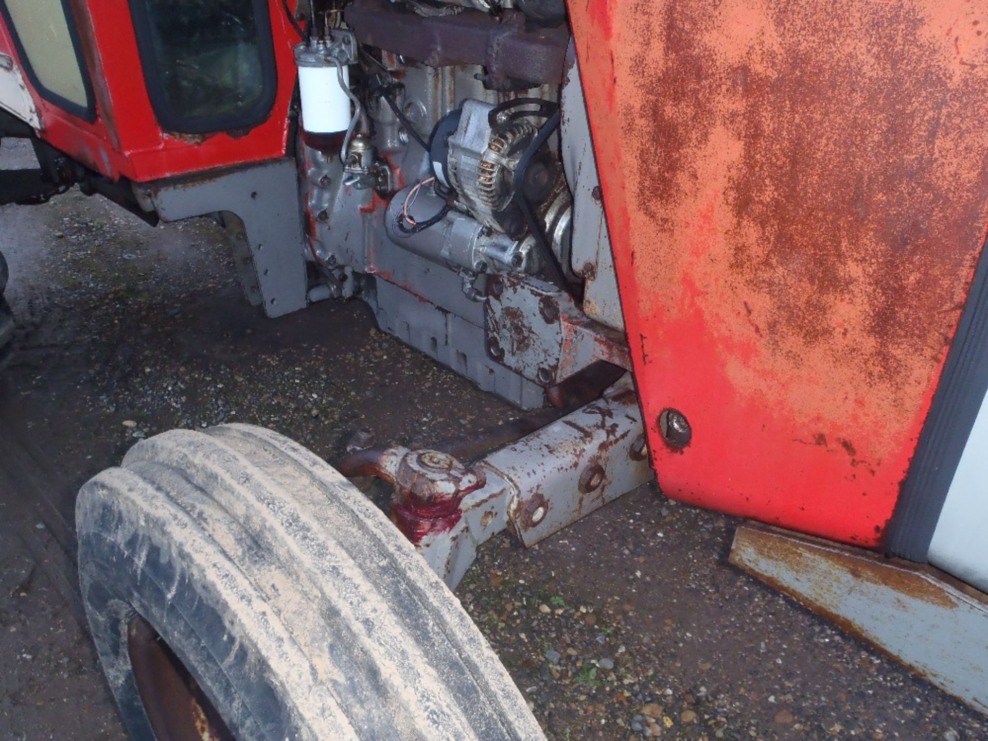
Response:
[[[652,477],[627,375],[600,399],[472,466],[449,453],[396,447],[352,455],[341,472],[395,485],[392,521],[451,589],[479,546],[509,525],[534,545]]]

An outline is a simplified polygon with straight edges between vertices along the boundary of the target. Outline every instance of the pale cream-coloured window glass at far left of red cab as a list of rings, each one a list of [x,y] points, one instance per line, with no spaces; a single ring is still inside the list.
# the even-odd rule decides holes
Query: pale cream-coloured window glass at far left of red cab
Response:
[[[62,0],[6,0],[8,20],[39,92],[54,103],[89,109],[89,95],[77,46]],[[59,100],[60,99],[60,100]],[[74,111],[72,113],[75,113]]]

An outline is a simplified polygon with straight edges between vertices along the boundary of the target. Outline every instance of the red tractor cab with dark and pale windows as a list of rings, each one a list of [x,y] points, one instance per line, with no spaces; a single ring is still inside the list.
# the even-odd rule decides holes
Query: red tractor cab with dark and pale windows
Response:
[[[7,0],[0,11],[0,136],[31,135],[41,163],[3,174],[4,203],[79,183],[153,219],[125,184],[286,154],[297,37],[278,2]]]

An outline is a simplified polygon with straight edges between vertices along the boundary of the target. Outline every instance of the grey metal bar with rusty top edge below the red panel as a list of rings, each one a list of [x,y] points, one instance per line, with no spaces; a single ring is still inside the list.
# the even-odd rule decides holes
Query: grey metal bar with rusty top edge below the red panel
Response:
[[[742,525],[731,563],[988,711],[988,596],[936,569]]]

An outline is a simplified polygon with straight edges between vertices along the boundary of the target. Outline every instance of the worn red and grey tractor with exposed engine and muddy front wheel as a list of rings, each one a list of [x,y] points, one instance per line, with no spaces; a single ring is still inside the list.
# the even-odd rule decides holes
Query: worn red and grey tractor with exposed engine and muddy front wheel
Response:
[[[339,471],[175,430],[89,481],[82,595],[130,734],[540,738],[450,588],[492,535],[653,475],[760,523],[735,563],[988,709],[986,10],[0,0],[0,136],[39,160],[0,204],[213,214],[269,316],[359,298],[532,410]],[[0,297],[0,364],[11,336]]]

